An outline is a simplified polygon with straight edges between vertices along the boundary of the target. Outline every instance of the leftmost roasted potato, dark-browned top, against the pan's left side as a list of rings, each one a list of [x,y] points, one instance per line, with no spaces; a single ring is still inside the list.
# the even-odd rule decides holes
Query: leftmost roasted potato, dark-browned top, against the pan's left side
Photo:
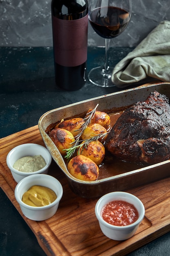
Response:
[[[73,146],[73,142],[75,141],[75,138],[71,132],[61,128],[53,129],[50,132],[49,137],[52,139],[62,155],[66,155],[66,150],[64,149],[71,148],[71,146]]]

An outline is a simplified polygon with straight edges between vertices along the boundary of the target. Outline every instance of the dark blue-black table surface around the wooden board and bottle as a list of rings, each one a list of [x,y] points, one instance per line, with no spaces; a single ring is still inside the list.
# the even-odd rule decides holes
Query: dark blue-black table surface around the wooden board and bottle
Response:
[[[115,65],[132,48],[110,49]],[[88,48],[87,72],[104,62],[104,49]],[[86,81],[80,90],[67,92],[55,86],[53,49],[49,47],[0,47],[0,138],[38,124],[53,108],[119,91],[99,88]],[[114,253],[114,252],[113,252]],[[44,256],[35,235],[0,189],[0,256]],[[128,256],[170,255],[170,233],[153,240]]]

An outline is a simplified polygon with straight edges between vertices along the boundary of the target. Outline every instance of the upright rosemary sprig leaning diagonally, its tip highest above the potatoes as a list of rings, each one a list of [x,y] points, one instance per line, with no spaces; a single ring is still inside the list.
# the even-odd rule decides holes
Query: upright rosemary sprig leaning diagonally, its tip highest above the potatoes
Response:
[[[84,124],[82,124],[81,128],[79,128],[77,131],[79,131],[79,133],[75,136],[75,141],[72,142],[71,144],[74,144],[71,148],[66,148],[64,150],[67,151],[65,157],[68,159],[70,157],[72,157],[72,155],[75,153],[75,150],[79,147],[79,139],[83,133],[83,131],[87,128],[87,126],[90,124],[91,119],[93,119],[96,109],[99,106],[99,104],[97,104],[95,106],[95,108],[93,110],[91,110],[90,112],[86,113],[86,116],[84,117]]]

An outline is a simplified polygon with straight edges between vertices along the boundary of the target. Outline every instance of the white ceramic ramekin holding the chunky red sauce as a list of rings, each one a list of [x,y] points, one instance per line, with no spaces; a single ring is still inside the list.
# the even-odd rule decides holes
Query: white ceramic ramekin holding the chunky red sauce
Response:
[[[115,226],[106,222],[101,216],[102,208],[106,204],[114,200],[123,200],[130,204],[133,204],[139,213],[139,218],[134,223],[127,226]],[[137,198],[135,195],[121,191],[111,192],[103,195],[97,201],[95,206],[95,215],[99,221],[100,228],[105,236],[113,240],[126,240],[135,234],[140,222],[144,218],[145,208],[141,200],[139,200],[139,198]]]

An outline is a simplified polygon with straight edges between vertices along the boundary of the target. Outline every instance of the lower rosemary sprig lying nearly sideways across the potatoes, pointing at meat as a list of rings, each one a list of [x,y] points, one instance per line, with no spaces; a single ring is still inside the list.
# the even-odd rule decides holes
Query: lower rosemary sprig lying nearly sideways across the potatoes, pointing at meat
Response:
[[[80,154],[80,149],[83,147],[83,149],[84,148],[86,148],[87,146],[88,146],[88,144],[90,143],[90,142],[92,142],[92,141],[97,141],[97,140],[99,140],[99,139],[104,139],[104,137],[109,133],[110,131],[108,131],[108,132],[104,132],[104,133],[100,133],[100,134],[97,134],[97,135],[95,135],[94,134],[94,136],[93,137],[91,137],[90,139],[85,139],[85,140],[80,140],[79,142],[80,142],[80,144],[77,144],[77,145],[73,145],[71,148],[66,148],[66,149],[64,149],[64,150],[66,150],[66,155],[65,155],[65,157],[66,157],[66,159],[69,159],[70,157],[72,157],[72,155],[75,153],[75,150],[77,150],[77,148],[79,149],[78,150],[78,155]],[[81,143],[83,141],[83,143]]]

